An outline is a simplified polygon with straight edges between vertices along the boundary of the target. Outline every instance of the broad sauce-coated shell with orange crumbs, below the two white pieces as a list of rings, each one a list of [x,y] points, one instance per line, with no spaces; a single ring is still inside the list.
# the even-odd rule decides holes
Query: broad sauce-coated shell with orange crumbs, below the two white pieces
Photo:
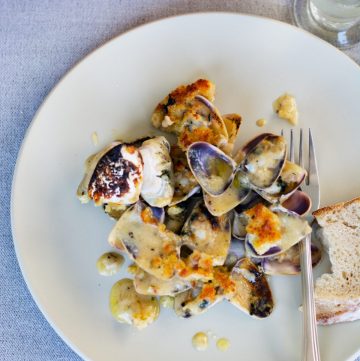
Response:
[[[117,221],[109,243],[124,248],[129,258],[146,272],[167,280],[176,274],[181,238],[161,224],[157,212],[162,214],[159,208],[138,201]]]

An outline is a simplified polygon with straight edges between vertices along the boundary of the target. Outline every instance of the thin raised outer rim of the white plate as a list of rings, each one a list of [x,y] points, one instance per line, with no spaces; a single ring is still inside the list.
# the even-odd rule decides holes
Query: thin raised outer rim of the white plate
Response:
[[[16,193],[16,185],[17,185],[17,182],[19,181],[18,180],[18,170],[19,170],[19,167],[21,164],[21,159],[22,159],[22,155],[23,155],[25,146],[26,146],[27,142],[29,141],[29,136],[31,134],[34,124],[36,123],[36,121],[38,119],[39,114],[42,112],[43,108],[46,107],[49,99],[57,91],[57,89],[59,87],[61,87],[62,83],[68,78],[68,76],[70,76],[73,72],[75,72],[77,70],[77,68],[80,67],[84,62],[86,62],[88,58],[92,57],[93,54],[97,53],[98,51],[100,52],[100,51],[104,50],[106,47],[111,46],[113,43],[119,41],[119,39],[122,39],[123,37],[129,36],[132,33],[135,33],[137,31],[143,30],[143,28],[151,27],[153,25],[156,25],[156,24],[162,23],[162,22],[171,22],[171,21],[179,19],[179,18],[190,18],[190,17],[199,17],[199,16],[208,16],[208,15],[234,16],[234,17],[237,16],[239,18],[246,17],[246,18],[257,19],[257,20],[267,22],[267,23],[277,24],[277,26],[280,25],[280,26],[284,26],[285,28],[293,29],[294,31],[301,32],[305,36],[315,39],[315,41],[318,41],[320,44],[323,44],[327,47],[332,48],[333,50],[336,50],[336,52],[338,54],[341,54],[343,59],[347,59],[347,61],[349,61],[352,66],[355,65],[355,68],[357,68],[357,70],[360,71],[360,64],[357,64],[355,62],[355,60],[353,60],[350,56],[345,54],[343,51],[341,51],[340,49],[331,45],[330,43],[326,42],[325,40],[317,37],[316,35],[308,32],[302,28],[295,26],[294,24],[287,23],[287,22],[284,22],[284,21],[281,21],[278,19],[269,18],[269,17],[262,16],[262,15],[248,14],[248,13],[234,12],[234,11],[200,11],[200,12],[182,13],[182,14],[177,14],[177,15],[160,17],[158,19],[155,19],[155,20],[152,20],[152,21],[149,21],[149,22],[146,22],[146,23],[134,26],[134,27],[130,27],[129,29],[127,29],[117,35],[114,35],[111,39],[105,40],[103,43],[96,46],[85,56],[83,56],[82,58],[77,60],[67,71],[65,71],[65,73],[59,78],[59,80],[56,82],[56,84],[51,88],[49,93],[42,99],[40,106],[38,107],[34,116],[32,117],[32,119],[24,133],[23,139],[21,140],[21,145],[18,149],[15,167],[14,167],[13,174],[12,174],[12,181],[11,181],[10,226],[11,226],[11,235],[12,235],[12,241],[13,241],[12,243],[14,245],[16,259],[17,259],[17,262],[18,262],[18,265],[19,265],[19,268],[21,271],[21,275],[25,281],[27,289],[29,290],[31,298],[34,300],[36,306],[38,307],[38,309],[44,316],[45,320],[49,323],[49,325],[56,332],[56,334],[65,342],[65,344],[70,348],[70,350],[72,350],[74,353],[77,354],[77,356],[83,358],[84,360],[91,360],[91,358],[89,355],[86,355],[85,353],[83,353],[83,351],[80,350],[80,348],[78,348],[78,346],[75,343],[73,343],[70,340],[70,338],[68,338],[68,336],[66,336],[64,334],[64,332],[55,324],[52,317],[49,315],[48,311],[45,309],[45,306],[43,306],[41,304],[41,302],[38,300],[38,297],[32,287],[32,282],[29,279],[28,274],[25,272],[25,270],[23,268],[24,261],[23,261],[23,258],[20,256],[20,245],[19,245],[19,242],[17,241],[17,237],[16,237],[16,217],[15,217],[16,206],[14,204],[14,198],[15,198],[15,193]],[[350,356],[347,359],[347,361],[353,361],[353,359],[355,359],[355,357],[359,356],[359,355],[360,355],[360,345],[359,345],[359,350],[355,354],[353,354],[353,356]]]

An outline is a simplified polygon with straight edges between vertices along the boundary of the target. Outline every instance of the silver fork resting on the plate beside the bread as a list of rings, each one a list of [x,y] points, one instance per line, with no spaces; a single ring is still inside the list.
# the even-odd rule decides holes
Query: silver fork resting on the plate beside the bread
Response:
[[[283,131],[281,131],[283,135]],[[299,134],[299,154],[298,164],[304,167],[303,160],[303,131],[300,129]],[[294,145],[294,131],[290,130],[290,151],[289,160],[295,161],[295,145]],[[315,156],[314,141],[311,130],[309,129],[309,144],[308,144],[308,162],[305,168],[308,172],[301,189],[307,193],[312,202],[310,214],[319,208],[320,205],[320,185],[319,175]],[[312,221],[312,216],[308,217],[308,221]],[[320,361],[319,340],[316,325],[316,311],[314,302],[314,281],[311,262],[311,235],[305,237],[300,242],[300,262],[301,262],[301,283],[303,294],[303,361]]]

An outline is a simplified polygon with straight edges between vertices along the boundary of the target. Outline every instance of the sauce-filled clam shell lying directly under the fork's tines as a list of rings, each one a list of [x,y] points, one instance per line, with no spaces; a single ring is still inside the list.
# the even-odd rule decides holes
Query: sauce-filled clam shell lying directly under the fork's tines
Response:
[[[271,203],[282,203],[300,187],[306,178],[306,174],[304,168],[286,161],[277,180],[269,188],[257,191]]]

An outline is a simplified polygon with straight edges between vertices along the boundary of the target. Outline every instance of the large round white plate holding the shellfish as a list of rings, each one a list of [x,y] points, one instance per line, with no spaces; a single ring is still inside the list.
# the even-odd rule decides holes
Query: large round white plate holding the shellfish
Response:
[[[116,323],[108,294],[119,275],[104,278],[95,262],[110,249],[113,225],[75,190],[84,159],[115,137],[148,134],[156,103],[199,77],[217,85],[216,104],[239,112],[239,142],[289,126],[272,101],[296,96],[300,125],[317,143],[322,204],[360,195],[360,69],[321,40],[277,21],[212,13],[158,21],[109,42],[79,63],[38,111],[21,148],[12,194],[19,263],[39,308],[59,335],[91,360],[300,360],[298,277],[272,278],[276,309],[251,319],[223,303],[203,316],[177,319],[169,310],[151,327]],[[91,134],[99,135],[99,145]],[[212,330],[231,340],[224,355],[211,343],[199,353],[192,335]],[[345,360],[360,349],[360,322],[320,328],[322,359]]]

